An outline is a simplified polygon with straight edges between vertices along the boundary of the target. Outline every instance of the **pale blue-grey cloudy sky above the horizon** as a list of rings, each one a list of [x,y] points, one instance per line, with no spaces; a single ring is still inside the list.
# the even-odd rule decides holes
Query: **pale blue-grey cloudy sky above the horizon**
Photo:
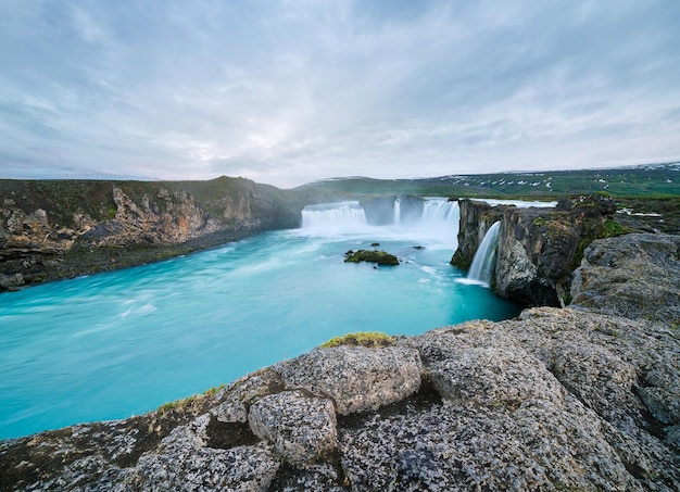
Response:
[[[0,0],[0,177],[678,159],[678,0]]]

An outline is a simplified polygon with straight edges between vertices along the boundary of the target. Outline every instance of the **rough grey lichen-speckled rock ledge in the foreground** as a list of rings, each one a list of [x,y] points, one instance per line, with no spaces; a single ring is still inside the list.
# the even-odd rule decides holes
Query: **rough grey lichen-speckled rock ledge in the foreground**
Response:
[[[569,308],[316,349],[143,416],[3,441],[0,490],[677,491],[679,267],[677,236],[595,240]],[[629,302],[659,280],[654,307]]]

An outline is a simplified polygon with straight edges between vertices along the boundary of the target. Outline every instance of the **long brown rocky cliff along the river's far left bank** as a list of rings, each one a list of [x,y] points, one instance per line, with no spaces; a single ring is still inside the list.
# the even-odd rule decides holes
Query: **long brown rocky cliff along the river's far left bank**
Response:
[[[0,180],[0,291],[297,227],[331,197],[248,179]]]

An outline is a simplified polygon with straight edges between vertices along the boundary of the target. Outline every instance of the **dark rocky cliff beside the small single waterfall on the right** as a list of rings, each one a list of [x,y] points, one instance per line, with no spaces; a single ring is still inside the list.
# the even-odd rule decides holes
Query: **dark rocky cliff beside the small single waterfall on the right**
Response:
[[[500,220],[492,289],[528,305],[569,302],[571,272],[594,239],[624,232],[614,201],[602,194],[572,197],[555,209],[491,207],[461,201],[458,250],[452,263],[467,267],[484,232]]]

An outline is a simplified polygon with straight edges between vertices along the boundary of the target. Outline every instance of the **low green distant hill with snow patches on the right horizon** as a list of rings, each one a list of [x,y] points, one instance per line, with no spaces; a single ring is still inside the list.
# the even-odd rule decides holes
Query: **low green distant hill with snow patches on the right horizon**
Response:
[[[545,171],[450,175],[433,178],[332,178],[300,189],[360,194],[420,194],[443,197],[556,197],[607,191],[619,197],[680,195],[680,162],[609,169]]]

